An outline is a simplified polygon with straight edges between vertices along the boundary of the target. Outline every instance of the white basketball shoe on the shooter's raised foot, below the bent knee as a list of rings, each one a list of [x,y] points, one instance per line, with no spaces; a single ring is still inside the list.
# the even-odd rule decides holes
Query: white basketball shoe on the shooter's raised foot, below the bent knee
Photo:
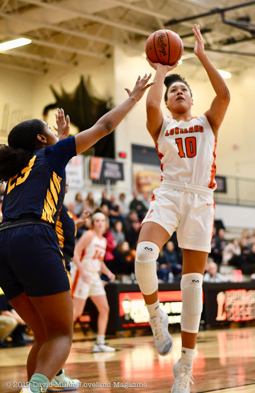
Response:
[[[161,318],[154,317],[149,320],[153,332],[153,340],[161,356],[168,355],[173,349],[173,340],[168,332],[168,314],[161,310]]]

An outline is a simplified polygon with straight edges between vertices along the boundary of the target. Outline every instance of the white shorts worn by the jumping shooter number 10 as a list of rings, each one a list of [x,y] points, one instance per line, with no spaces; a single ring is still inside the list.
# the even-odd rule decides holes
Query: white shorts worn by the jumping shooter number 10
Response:
[[[142,224],[156,222],[170,237],[177,231],[180,248],[210,252],[214,211],[211,189],[163,180],[153,190]]]

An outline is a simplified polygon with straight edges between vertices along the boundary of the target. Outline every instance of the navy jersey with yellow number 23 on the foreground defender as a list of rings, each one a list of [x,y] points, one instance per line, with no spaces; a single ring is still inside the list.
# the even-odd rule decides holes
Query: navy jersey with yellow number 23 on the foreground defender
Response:
[[[55,226],[65,195],[65,167],[73,156],[75,137],[33,152],[27,167],[8,180],[3,222],[29,216]]]

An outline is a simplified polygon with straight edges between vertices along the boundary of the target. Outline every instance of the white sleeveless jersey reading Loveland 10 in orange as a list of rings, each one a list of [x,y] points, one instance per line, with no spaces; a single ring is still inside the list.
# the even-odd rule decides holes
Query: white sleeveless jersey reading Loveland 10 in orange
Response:
[[[204,114],[187,122],[164,116],[156,149],[161,180],[216,188],[216,139]]]

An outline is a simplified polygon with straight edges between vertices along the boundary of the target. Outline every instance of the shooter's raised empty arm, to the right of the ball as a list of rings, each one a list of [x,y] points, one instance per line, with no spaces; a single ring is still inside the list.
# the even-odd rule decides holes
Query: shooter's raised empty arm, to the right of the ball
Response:
[[[217,139],[219,127],[228,108],[230,94],[224,79],[204,52],[204,40],[200,33],[199,25],[195,24],[192,31],[197,40],[194,53],[204,66],[204,69],[206,70],[213,89],[216,93],[216,97],[213,99],[210,109],[205,112],[205,116],[207,117],[211,129],[213,130],[213,134]]]

